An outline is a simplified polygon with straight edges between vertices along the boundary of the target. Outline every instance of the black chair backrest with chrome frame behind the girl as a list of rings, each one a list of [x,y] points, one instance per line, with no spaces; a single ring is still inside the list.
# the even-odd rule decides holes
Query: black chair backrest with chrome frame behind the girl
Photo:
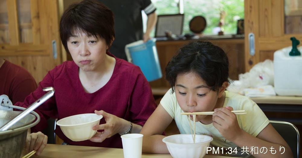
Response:
[[[275,130],[288,143],[295,158],[300,157],[300,134],[297,127],[289,122],[270,121]]]

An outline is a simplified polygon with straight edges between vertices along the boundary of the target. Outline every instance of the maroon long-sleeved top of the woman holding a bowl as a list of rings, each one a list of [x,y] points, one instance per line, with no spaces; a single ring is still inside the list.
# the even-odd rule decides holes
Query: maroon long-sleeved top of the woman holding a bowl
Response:
[[[43,130],[50,117],[61,119],[76,114],[94,113],[94,110],[104,110],[143,126],[156,108],[149,83],[139,67],[122,59],[115,59],[114,71],[108,83],[91,94],[83,89],[79,79],[79,67],[73,61],[66,61],[49,71],[37,90],[26,97],[24,103],[17,103],[18,106],[27,107],[45,94],[43,87],[54,87],[54,96],[35,110],[41,121],[31,129],[32,132]],[[104,118],[101,119],[100,124],[102,123],[105,123]],[[71,145],[122,148],[119,134],[102,143],[95,143],[90,140],[69,140],[59,126],[55,132]]]

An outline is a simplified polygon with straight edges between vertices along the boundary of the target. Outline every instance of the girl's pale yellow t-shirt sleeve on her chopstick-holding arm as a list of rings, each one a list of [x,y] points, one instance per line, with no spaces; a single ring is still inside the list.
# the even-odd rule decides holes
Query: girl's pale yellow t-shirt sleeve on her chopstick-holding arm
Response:
[[[240,115],[239,123],[242,125],[242,129],[254,137],[268,125],[269,120],[260,109],[260,107],[248,97],[244,97],[240,100],[242,110],[245,110],[247,114]]]

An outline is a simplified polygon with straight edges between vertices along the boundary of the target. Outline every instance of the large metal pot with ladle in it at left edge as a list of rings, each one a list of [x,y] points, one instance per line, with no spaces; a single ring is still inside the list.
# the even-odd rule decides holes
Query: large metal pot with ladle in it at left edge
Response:
[[[43,88],[43,91],[48,92],[27,109],[12,105],[7,95],[0,95],[0,158],[20,158],[27,130],[40,121],[40,116],[33,110],[52,97],[55,92],[53,87]],[[24,111],[12,111],[12,108]]]

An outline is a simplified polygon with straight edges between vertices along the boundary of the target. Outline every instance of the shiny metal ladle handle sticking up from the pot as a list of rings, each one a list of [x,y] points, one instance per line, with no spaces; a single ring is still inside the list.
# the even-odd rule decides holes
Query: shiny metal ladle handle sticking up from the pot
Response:
[[[44,94],[42,97],[40,97],[38,100],[36,100],[33,104],[31,104],[29,107],[26,108],[26,110],[24,110],[22,113],[20,113],[18,116],[16,116],[14,119],[12,119],[11,121],[9,121],[8,123],[6,123],[4,126],[2,126],[0,128],[0,131],[5,131],[8,130],[8,128],[10,128],[12,125],[14,125],[16,122],[18,122],[19,120],[21,120],[23,117],[25,117],[27,114],[29,114],[31,111],[35,110],[37,107],[39,107],[41,104],[43,104],[46,100],[48,100],[50,97],[53,96],[53,94],[55,93],[55,90],[53,89],[53,87],[46,87],[43,88],[43,91],[48,91],[46,94]],[[1,101],[1,106],[3,107],[8,107],[8,108],[13,108],[15,106],[9,105],[9,104],[4,104]]]

